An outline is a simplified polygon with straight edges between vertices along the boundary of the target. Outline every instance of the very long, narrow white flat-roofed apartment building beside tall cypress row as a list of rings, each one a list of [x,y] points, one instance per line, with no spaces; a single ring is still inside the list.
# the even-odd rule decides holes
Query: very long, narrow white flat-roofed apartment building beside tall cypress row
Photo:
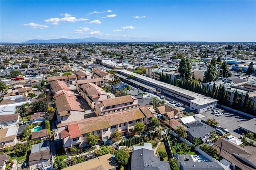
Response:
[[[130,81],[128,79],[128,75],[133,75],[132,83],[140,85],[143,83],[149,87],[155,88],[157,91],[161,93],[170,95],[171,97],[177,98],[179,100],[184,101],[187,105],[190,105],[190,110],[196,110],[198,113],[203,113],[205,111],[213,109],[217,105],[216,99],[211,97],[207,97],[193,91],[189,91],[186,89],[182,89],[180,87],[176,87],[174,85],[170,85],[168,83],[164,83],[162,81],[158,81],[155,79],[151,79],[149,77],[145,77],[143,75],[139,75],[127,70],[118,70],[116,71],[116,76],[120,77],[124,81]],[[194,108],[194,109],[193,109]]]

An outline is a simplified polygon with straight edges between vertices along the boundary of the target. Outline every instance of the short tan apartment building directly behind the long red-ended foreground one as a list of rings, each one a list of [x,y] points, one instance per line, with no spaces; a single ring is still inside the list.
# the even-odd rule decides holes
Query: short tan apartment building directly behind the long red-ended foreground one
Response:
[[[96,113],[96,115],[100,116],[118,111],[128,110],[138,106],[138,99],[136,99],[132,95],[127,95],[96,102],[94,112]]]

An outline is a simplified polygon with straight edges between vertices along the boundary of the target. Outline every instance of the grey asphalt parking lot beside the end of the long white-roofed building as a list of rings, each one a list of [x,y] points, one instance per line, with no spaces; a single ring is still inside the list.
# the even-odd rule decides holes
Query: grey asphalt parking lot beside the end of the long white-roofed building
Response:
[[[231,132],[231,134],[233,136],[236,136],[237,138],[242,136],[241,132],[238,132],[237,125],[240,125],[241,123],[244,123],[245,121],[252,119],[244,115],[239,115],[233,112],[231,113],[229,111],[224,111],[222,109],[218,109],[218,111],[224,114],[218,117],[215,114],[212,114],[212,111],[206,111],[201,114],[205,116],[204,118],[202,118],[202,120],[206,121],[207,119],[216,119],[216,121],[219,123],[218,126],[228,129],[229,132]]]

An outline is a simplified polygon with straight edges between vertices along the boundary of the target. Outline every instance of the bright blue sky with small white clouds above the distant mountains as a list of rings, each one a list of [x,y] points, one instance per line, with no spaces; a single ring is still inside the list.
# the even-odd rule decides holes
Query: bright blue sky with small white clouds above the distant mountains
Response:
[[[0,41],[256,42],[256,1],[0,1]]]

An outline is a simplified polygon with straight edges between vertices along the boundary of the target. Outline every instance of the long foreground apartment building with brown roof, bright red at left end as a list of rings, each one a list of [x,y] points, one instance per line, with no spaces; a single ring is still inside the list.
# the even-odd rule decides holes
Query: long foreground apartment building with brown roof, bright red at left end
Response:
[[[134,133],[136,122],[142,122],[145,126],[154,117],[147,107],[136,107],[113,114],[92,117],[80,121],[58,124],[58,132],[63,142],[63,148],[69,152],[70,148],[87,146],[88,133],[97,134],[97,144],[107,144],[111,140],[111,134],[118,129],[122,136]]]

